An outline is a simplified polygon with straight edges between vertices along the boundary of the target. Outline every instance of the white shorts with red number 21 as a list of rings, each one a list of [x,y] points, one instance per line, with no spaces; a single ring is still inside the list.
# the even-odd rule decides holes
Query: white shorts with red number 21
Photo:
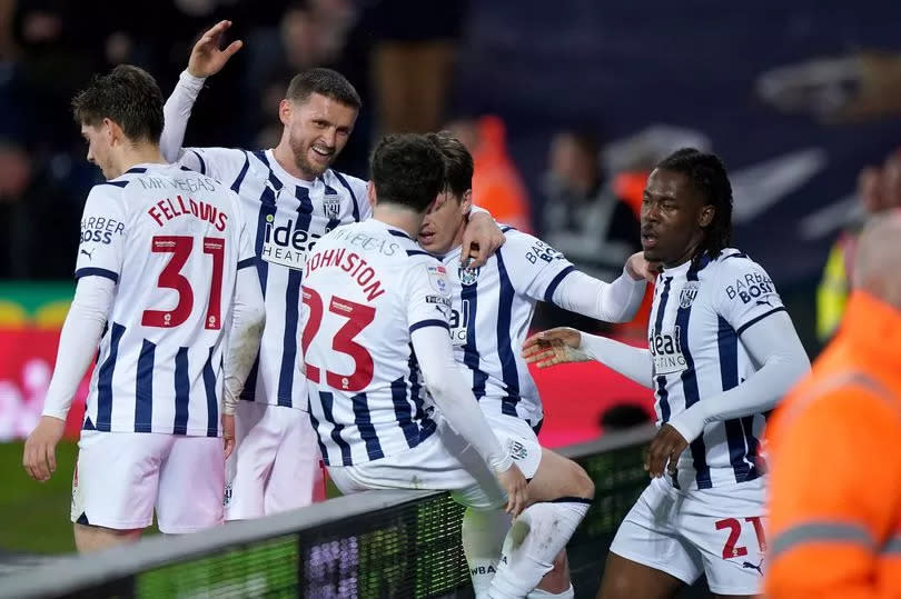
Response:
[[[765,482],[682,491],[651,481],[626,515],[610,550],[687,585],[702,573],[717,595],[762,590],[766,541]]]

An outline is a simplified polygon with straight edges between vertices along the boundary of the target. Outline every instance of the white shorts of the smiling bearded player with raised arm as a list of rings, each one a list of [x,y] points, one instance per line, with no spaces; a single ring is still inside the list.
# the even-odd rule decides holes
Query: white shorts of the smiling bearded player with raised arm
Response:
[[[227,520],[247,520],[325,499],[323,466],[309,415],[239,401],[235,451],[226,462]]]

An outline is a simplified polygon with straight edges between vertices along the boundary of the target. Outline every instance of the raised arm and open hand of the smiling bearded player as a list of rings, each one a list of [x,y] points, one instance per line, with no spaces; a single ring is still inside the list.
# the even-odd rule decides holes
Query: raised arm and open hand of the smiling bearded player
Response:
[[[169,99],[166,100],[162,109],[166,123],[160,138],[160,150],[169,162],[175,162],[180,157],[188,119],[190,119],[194,102],[204,87],[204,80],[219,72],[235,52],[244,46],[242,41],[236,40],[225,49],[219,49],[222,36],[230,27],[231,21],[219,21],[200,36],[191,50],[188,68],[179,76],[178,83]]]

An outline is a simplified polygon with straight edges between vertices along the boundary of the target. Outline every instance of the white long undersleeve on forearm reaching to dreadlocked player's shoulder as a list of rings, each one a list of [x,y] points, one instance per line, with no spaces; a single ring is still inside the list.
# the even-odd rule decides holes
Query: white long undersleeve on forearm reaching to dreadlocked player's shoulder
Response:
[[[552,301],[564,310],[597,320],[628,322],[642,305],[644,288],[644,279],[636,281],[625,269],[611,283],[573,270],[560,281]]]

